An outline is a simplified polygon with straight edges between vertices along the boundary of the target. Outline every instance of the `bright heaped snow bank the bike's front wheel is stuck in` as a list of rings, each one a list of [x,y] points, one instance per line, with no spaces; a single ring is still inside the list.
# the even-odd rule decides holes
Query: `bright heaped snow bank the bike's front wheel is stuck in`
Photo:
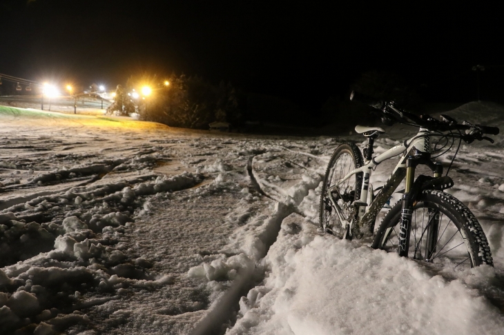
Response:
[[[291,219],[289,217],[289,219]],[[501,334],[504,317],[477,290],[469,270],[446,281],[414,261],[317,236],[286,219],[266,256],[269,275],[240,301],[226,334]]]

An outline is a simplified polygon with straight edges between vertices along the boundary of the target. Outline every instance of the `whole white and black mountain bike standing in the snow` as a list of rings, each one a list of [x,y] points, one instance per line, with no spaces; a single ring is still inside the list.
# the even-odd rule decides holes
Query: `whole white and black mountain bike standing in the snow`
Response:
[[[478,220],[461,201],[444,190],[454,185],[448,172],[461,142],[494,143],[484,134],[496,135],[499,129],[467,121],[458,123],[444,114],[440,119],[426,114],[418,116],[393,101],[376,101],[358,92],[352,92],[350,99],[370,105],[382,123],[411,125],[418,128],[418,133],[374,156],[374,140],[385,134],[385,130],[356,126],[356,132],[367,138],[367,145],[363,155],[353,143],[343,143],[333,152],[320,196],[322,230],[349,240],[369,237],[375,249],[429,263],[458,269],[469,265],[493,266],[492,253]],[[457,139],[458,147],[443,175],[443,165],[434,159],[454,148]],[[395,156],[400,159],[389,179],[385,185],[373,189],[369,182],[372,172]],[[415,176],[418,165],[429,167],[432,176]],[[398,191],[403,193],[402,199],[391,207],[375,232],[378,213],[403,180],[405,188]]]

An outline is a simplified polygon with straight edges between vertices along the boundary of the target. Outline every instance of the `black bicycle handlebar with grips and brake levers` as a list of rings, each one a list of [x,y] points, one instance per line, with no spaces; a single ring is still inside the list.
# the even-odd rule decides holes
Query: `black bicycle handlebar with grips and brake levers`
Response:
[[[417,116],[410,112],[406,112],[405,110],[400,110],[392,101],[379,101],[356,91],[351,92],[350,100],[365,103],[376,110],[380,110],[382,122],[388,125],[391,125],[393,121],[396,121],[398,123],[415,125],[429,130],[438,130],[440,132],[447,132],[450,130],[470,130],[469,134],[466,134],[465,136],[470,135],[471,137],[474,137],[474,139],[480,140],[483,139],[483,134],[497,135],[499,133],[499,129],[497,127],[473,125],[465,121],[463,123],[457,123],[457,121],[445,115],[442,115],[443,121],[434,119],[432,116],[425,114]]]

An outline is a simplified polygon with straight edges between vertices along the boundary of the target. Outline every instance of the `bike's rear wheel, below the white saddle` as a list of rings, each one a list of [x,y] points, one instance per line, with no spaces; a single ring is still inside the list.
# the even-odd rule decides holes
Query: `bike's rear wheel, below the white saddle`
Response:
[[[345,234],[333,201],[340,207],[342,215],[347,218],[351,212],[351,203],[360,199],[360,187],[362,185],[362,172],[353,174],[344,183],[338,186],[338,190],[332,190],[331,187],[343,179],[349,172],[362,166],[362,154],[357,145],[345,143],[334,150],[329,165],[324,176],[322,185],[322,194],[320,195],[320,227],[324,232],[336,235],[339,238]],[[331,192],[331,194],[329,194]]]

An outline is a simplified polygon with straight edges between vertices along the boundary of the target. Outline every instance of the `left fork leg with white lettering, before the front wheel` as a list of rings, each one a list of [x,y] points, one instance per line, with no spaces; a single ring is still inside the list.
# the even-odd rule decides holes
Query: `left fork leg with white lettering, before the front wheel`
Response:
[[[411,234],[411,214],[413,212],[413,203],[409,191],[415,179],[415,167],[411,156],[406,159],[406,178],[405,178],[405,193],[403,194],[403,207],[400,212],[399,226],[399,256],[408,256],[409,250],[409,235]]]

